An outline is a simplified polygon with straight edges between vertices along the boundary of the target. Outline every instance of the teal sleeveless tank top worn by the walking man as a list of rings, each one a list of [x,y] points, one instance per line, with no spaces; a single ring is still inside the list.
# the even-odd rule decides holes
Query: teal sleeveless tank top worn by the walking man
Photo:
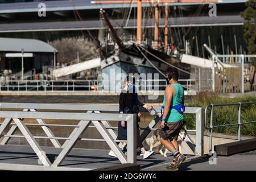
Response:
[[[167,122],[177,122],[184,119],[183,114],[180,114],[176,109],[172,109],[172,106],[176,106],[181,104],[183,97],[184,97],[184,89],[180,84],[171,84],[175,88],[175,94],[172,97],[171,102],[171,110],[167,114],[166,121]],[[166,96],[164,96],[163,106],[166,104]]]

